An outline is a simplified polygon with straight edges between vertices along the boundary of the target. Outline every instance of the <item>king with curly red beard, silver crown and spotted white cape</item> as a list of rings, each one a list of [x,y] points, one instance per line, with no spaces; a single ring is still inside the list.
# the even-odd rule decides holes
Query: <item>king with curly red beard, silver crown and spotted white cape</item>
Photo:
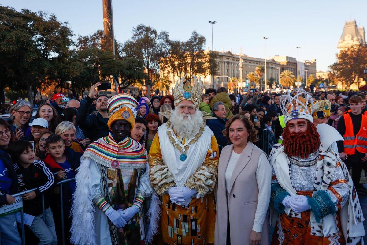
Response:
[[[360,202],[344,162],[313,125],[312,96],[294,89],[280,101],[283,143],[269,156],[272,244],[361,244]]]

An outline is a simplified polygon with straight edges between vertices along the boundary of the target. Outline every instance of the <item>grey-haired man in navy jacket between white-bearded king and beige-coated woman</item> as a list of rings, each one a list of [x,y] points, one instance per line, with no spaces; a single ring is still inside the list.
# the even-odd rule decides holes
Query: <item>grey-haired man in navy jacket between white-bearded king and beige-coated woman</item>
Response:
[[[227,138],[223,135],[222,131],[226,127],[226,108],[222,101],[215,102],[212,109],[212,114],[216,119],[210,119],[207,122],[208,127],[213,131],[215,138],[217,139],[219,146],[219,153],[222,148],[228,145]]]

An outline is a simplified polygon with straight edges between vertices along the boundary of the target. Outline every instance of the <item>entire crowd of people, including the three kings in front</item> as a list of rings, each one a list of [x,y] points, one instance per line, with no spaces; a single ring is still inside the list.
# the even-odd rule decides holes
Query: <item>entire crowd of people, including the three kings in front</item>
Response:
[[[367,94],[192,80],[150,99],[96,83],[81,101],[56,93],[34,118],[28,101],[12,105],[0,206],[36,188],[22,195],[27,244],[362,243]],[[15,213],[0,217],[1,244],[19,234]]]

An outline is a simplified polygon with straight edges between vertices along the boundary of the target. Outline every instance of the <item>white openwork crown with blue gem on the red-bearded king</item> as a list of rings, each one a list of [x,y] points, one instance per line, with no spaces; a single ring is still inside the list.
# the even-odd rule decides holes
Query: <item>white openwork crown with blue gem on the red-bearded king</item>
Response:
[[[284,122],[303,118],[313,122],[312,118],[312,96],[302,88],[288,89],[280,96],[280,109],[284,115]]]

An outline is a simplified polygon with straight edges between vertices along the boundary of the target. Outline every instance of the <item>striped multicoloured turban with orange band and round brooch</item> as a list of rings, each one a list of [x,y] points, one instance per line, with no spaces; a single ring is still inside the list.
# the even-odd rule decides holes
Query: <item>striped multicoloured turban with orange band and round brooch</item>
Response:
[[[137,107],[138,102],[130,94],[116,94],[112,96],[107,103],[108,128],[112,131],[111,126],[113,122],[116,120],[127,120],[132,130],[138,113]]]

